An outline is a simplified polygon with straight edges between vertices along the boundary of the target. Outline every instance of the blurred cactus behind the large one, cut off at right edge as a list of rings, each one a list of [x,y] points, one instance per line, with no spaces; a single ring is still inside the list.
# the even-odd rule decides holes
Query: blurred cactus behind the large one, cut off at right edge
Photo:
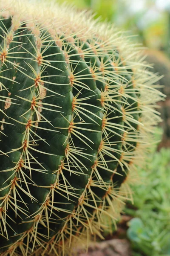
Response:
[[[161,118],[163,119],[162,126],[164,128],[162,143],[163,145],[168,145],[170,144],[170,60],[161,51],[148,49],[144,53],[147,55],[146,61],[153,64],[150,71],[159,73],[162,76],[159,83],[164,87],[161,87],[160,90],[167,96],[165,102],[159,102],[159,105],[161,105]]]

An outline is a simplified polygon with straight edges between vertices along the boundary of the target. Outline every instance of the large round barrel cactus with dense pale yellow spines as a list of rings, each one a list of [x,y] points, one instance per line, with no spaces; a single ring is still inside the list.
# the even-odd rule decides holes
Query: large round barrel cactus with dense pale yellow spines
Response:
[[[18,0],[0,10],[0,255],[70,255],[131,200],[160,121],[159,78],[90,13]]]

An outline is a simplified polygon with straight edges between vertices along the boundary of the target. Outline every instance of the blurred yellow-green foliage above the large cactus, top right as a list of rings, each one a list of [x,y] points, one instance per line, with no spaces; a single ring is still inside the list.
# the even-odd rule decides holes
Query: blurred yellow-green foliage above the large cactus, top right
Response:
[[[56,0],[63,3],[63,0]],[[168,8],[160,9],[156,0],[147,0],[140,7],[134,0],[65,0],[78,9],[91,9],[95,17],[114,23],[117,27],[129,30],[130,35],[138,35],[135,41],[144,46],[165,49],[167,47]],[[164,2],[164,1],[162,1]],[[163,3],[162,3],[162,6]]]

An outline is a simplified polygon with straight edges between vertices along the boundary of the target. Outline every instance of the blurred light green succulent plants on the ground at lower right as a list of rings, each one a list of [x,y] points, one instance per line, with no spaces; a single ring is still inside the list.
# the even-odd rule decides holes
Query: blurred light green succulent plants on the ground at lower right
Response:
[[[170,255],[170,148],[152,152],[142,182],[133,186],[134,204],[125,212],[129,221],[127,236],[133,244],[133,256]],[[142,254],[143,255],[143,254]]]

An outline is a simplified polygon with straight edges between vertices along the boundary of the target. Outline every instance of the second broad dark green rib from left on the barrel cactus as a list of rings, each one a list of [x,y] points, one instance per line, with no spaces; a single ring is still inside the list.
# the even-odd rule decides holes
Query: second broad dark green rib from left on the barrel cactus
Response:
[[[51,42],[53,42],[52,38],[48,38],[48,40],[50,39],[51,39]],[[39,127],[42,127],[45,129],[52,128],[52,129],[56,129],[56,131],[59,131],[59,132],[54,133],[49,130],[46,130],[44,132],[44,130],[41,130],[39,128],[36,131],[37,134],[40,137],[42,137],[50,145],[49,146],[45,142],[41,141],[39,143],[40,148],[43,148],[45,152],[54,154],[54,155],[47,155],[47,154],[37,153],[38,159],[47,170],[47,175],[46,175],[47,177],[45,176],[45,174],[42,174],[42,173],[35,173],[33,175],[33,180],[36,182],[38,186],[51,186],[52,184],[55,183],[57,175],[53,174],[53,172],[57,171],[57,169],[61,165],[61,161],[65,159],[65,148],[68,143],[68,129],[62,129],[62,128],[68,128],[69,122],[71,122],[71,119],[72,119],[73,94],[72,94],[72,87],[69,79],[69,72],[68,72],[68,69],[66,68],[67,64],[65,62],[65,56],[63,52],[60,50],[60,48],[55,46],[54,43],[51,43],[51,46],[52,47],[48,47],[48,49],[43,54],[43,56],[52,54],[51,56],[44,57],[44,60],[50,61],[51,66],[53,66],[53,67],[47,66],[45,69],[45,75],[51,76],[51,77],[47,77],[45,87],[61,95],[60,96],[57,94],[54,95],[54,93],[47,90],[46,96],[51,96],[51,97],[42,99],[42,102],[61,107],[59,108],[61,112],[59,113],[59,112],[51,111],[57,108],[54,108],[54,106],[49,106],[49,105],[47,106],[49,110],[44,110],[44,109],[42,110],[42,115],[51,122],[53,127],[48,122],[40,122]],[[56,55],[54,53],[56,53]],[[54,84],[51,84],[51,83],[54,83]],[[65,85],[56,85],[56,84],[65,84]],[[58,128],[55,128],[55,127],[58,127]],[[62,171],[64,176],[65,176],[65,173],[68,172],[67,170],[62,170]],[[62,175],[59,175],[59,184],[64,184]],[[34,187],[32,189],[33,189],[32,190],[33,195],[34,194],[36,195],[37,193],[39,193],[40,199],[41,199],[41,195],[44,195],[43,191],[45,191],[45,189],[40,187],[39,188]],[[70,190],[71,189],[68,189],[68,191]],[[60,190],[59,192],[63,193],[65,197],[63,197],[62,195],[59,195],[59,193],[57,192],[54,192],[54,207],[59,207],[62,209],[68,208],[68,211],[71,212],[72,209],[74,208],[74,204],[72,203],[71,200],[68,200],[66,192],[64,193],[64,192],[61,192]],[[65,215],[66,216],[68,215],[67,212],[64,213],[63,211],[61,212],[57,212],[55,210],[53,211],[60,218],[65,218]],[[50,215],[49,212],[48,214]],[[56,216],[52,214],[51,218],[56,218]],[[59,229],[62,228],[64,220],[58,219],[56,222],[57,224],[55,225],[54,223],[50,224],[50,227],[52,230],[58,231]],[[43,232],[47,235],[47,230],[43,230]]]

